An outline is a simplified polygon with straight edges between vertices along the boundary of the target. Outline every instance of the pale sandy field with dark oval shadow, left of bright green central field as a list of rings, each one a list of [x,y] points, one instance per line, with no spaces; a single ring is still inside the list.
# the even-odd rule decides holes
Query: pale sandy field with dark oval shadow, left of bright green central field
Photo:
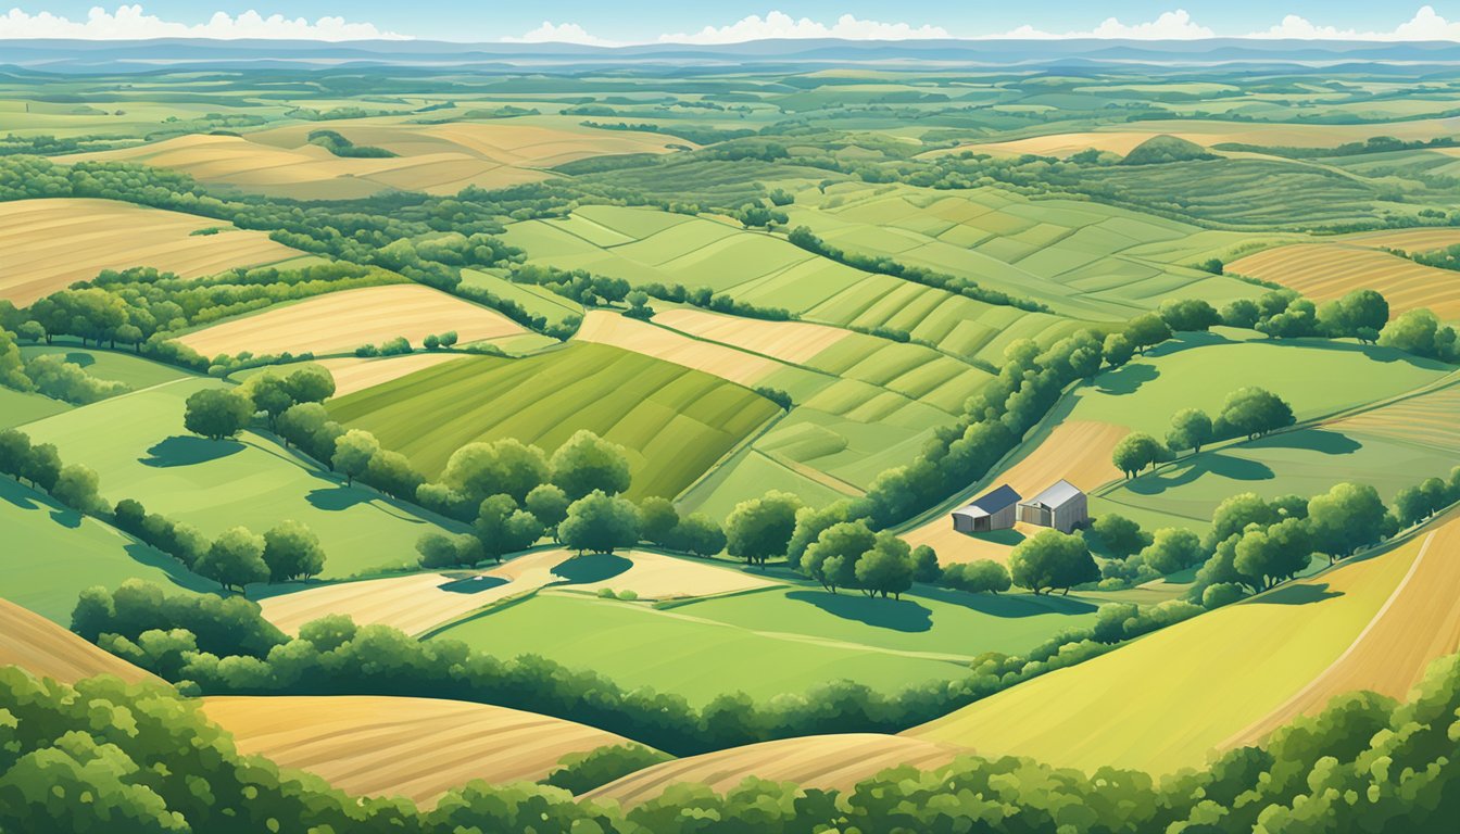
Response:
[[[564,551],[545,551],[482,573],[432,573],[340,583],[272,596],[258,605],[266,619],[291,634],[330,613],[349,615],[359,625],[381,624],[406,634],[422,634],[482,606],[556,581],[552,568],[566,558]]]

